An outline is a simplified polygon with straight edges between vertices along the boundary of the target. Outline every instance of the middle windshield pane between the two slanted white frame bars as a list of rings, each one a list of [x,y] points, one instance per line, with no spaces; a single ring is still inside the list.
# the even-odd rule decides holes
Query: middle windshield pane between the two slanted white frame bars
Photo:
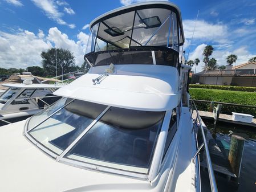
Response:
[[[74,100],[29,133],[42,145],[60,154],[105,108],[105,105]]]

